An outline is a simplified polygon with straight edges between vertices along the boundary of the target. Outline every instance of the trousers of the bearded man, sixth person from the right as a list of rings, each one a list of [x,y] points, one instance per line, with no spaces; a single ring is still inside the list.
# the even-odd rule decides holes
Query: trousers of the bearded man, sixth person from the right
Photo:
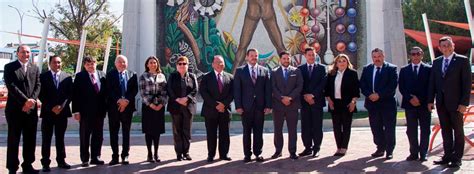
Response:
[[[275,145],[275,152],[281,153],[283,149],[283,123],[286,120],[286,127],[288,129],[288,152],[290,154],[296,153],[296,141],[298,126],[298,110],[274,110],[273,112],[273,144]]]

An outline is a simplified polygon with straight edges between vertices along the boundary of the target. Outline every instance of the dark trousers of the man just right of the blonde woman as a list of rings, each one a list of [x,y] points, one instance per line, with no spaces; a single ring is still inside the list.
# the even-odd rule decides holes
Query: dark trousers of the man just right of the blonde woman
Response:
[[[369,111],[369,123],[374,143],[377,150],[393,154],[395,148],[395,126],[397,124],[397,111],[371,109]]]

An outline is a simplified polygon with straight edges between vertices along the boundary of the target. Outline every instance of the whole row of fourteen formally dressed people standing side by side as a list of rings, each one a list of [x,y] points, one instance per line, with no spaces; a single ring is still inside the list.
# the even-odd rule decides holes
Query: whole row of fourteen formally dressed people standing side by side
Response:
[[[282,156],[283,125],[288,130],[290,158],[318,157],[323,138],[323,108],[328,104],[332,116],[337,150],[344,156],[348,150],[353,113],[360,93],[365,96],[365,108],[377,150],[372,157],[385,155],[393,158],[397,105],[395,92],[402,94],[402,108],[406,111],[407,136],[410,143],[408,161],[427,160],[431,110],[436,109],[442,127],[444,156],[435,164],[461,166],[464,150],[462,114],[469,105],[471,71],[469,60],[454,53],[450,37],[439,40],[442,56],[430,66],[422,62],[419,47],[410,50],[411,63],[397,67],[384,60],[383,50],[372,50],[372,63],[359,76],[348,55],[339,54],[333,65],[326,67],[316,61],[313,48],[304,50],[306,63],[291,65],[291,54],[279,53],[280,66],[269,70],[258,64],[258,50],[246,52],[247,64],[236,69],[235,75],[224,71],[224,58],[214,56],[210,72],[200,83],[188,72],[189,60],[179,57],[176,71],[166,77],[159,59],[150,56],[145,61],[145,72],[137,76],[128,69],[128,60],[119,55],[115,69],[107,74],[97,70],[93,57],[84,57],[84,70],[75,79],[61,71],[61,58],[49,58],[50,70],[39,74],[29,61],[30,48],[18,47],[18,61],[5,65],[8,101],[5,115],[8,123],[7,168],[16,172],[19,165],[18,149],[23,135],[24,172],[37,173],[35,160],[37,109],[41,103],[43,171],[50,171],[50,148],[53,133],[56,138],[56,161],[59,168],[70,168],[66,163],[64,133],[68,117],[80,123],[81,166],[102,165],[100,159],[104,118],[108,115],[112,160],[109,165],[128,164],[130,127],[136,111],[135,96],[142,101],[142,132],[148,150],[148,162],[160,162],[160,135],[165,132],[165,107],[172,117],[176,159],[192,160],[189,155],[191,124],[196,114],[196,95],[204,100],[201,115],[205,117],[208,162],[214,161],[216,149],[220,160],[228,156],[231,103],[241,116],[243,126],[244,162],[262,162],[264,116],[273,113],[276,159]],[[70,103],[72,102],[72,108]],[[304,150],[297,151],[297,123],[301,111],[301,139]],[[108,114],[106,114],[108,113]],[[119,156],[119,130],[122,127],[122,151]],[[418,127],[420,138],[418,140]],[[253,142],[252,142],[253,141]],[[153,147],[153,148],[152,148]],[[90,153],[89,153],[90,148]],[[121,158],[121,161],[119,160]]]

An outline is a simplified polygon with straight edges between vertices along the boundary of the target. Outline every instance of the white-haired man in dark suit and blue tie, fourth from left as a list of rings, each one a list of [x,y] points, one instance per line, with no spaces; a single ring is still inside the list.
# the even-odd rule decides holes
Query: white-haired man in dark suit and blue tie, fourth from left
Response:
[[[118,133],[122,125],[122,164],[128,164],[130,150],[130,126],[135,112],[135,96],[138,93],[137,73],[127,69],[128,60],[124,55],[115,59],[115,69],[107,73],[107,98],[109,115],[110,146],[112,160],[109,165],[119,163]]]

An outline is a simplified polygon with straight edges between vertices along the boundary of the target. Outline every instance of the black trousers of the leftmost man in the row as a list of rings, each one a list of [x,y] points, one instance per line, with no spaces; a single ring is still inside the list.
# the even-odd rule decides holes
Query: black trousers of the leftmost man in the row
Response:
[[[7,168],[16,171],[20,161],[18,160],[18,149],[20,147],[21,135],[23,135],[23,168],[32,167],[35,161],[36,149],[36,128],[38,124],[38,116],[36,112],[30,114],[7,113],[6,119],[8,124],[7,138]]]

